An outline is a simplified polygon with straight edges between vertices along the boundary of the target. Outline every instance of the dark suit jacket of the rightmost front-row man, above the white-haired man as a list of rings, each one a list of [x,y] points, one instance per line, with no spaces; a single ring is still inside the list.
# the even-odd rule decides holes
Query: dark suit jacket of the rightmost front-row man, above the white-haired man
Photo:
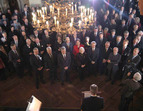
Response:
[[[127,58],[127,65],[134,65],[137,66],[139,62],[141,61],[141,57],[137,55],[135,58],[133,58],[133,54],[130,54],[130,56]]]

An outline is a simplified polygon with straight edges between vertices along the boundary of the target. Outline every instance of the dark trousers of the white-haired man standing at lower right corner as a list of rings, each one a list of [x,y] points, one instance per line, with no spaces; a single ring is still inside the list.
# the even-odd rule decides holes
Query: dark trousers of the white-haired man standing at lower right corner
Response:
[[[121,96],[120,104],[119,104],[119,111],[128,111],[130,102],[133,100],[132,97],[126,98]]]

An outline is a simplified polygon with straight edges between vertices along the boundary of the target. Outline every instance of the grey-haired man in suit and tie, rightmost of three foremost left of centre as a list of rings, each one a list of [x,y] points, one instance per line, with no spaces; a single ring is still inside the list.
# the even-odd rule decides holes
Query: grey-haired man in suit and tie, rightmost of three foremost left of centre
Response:
[[[66,52],[66,48],[64,46],[61,47],[61,53],[58,54],[58,65],[60,67],[61,73],[61,84],[64,85],[64,76],[66,75],[66,80],[70,81],[69,77],[69,69],[71,64],[71,55],[69,52]]]

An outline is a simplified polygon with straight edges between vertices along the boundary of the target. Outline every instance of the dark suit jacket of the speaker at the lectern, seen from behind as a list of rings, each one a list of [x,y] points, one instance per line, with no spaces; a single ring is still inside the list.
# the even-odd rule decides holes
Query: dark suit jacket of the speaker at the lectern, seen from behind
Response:
[[[101,111],[104,107],[104,100],[102,97],[87,97],[83,99],[81,110],[82,111]]]

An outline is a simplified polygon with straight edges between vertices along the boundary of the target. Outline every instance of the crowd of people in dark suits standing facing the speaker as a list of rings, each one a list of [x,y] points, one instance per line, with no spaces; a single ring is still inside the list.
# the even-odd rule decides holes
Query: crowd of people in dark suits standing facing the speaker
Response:
[[[64,85],[65,80],[71,83],[72,69],[80,80],[90,74],[105,74],[111,84],[117,77],[131,80],[143,71],[143,31],[136,11],[134,5],[101,7],[94,13],[93,29],[74,31],[66,38],[34,29],[31,13],[37,13],[35,7],[25,4],[22,13],[17,9],[0,12],[0,79],[7,78],[7,71],[20,78],[27,72],[34,74],[38,89],[39,82],[45,84],[43,71],[49,72],[51,83],[60,79]]]

